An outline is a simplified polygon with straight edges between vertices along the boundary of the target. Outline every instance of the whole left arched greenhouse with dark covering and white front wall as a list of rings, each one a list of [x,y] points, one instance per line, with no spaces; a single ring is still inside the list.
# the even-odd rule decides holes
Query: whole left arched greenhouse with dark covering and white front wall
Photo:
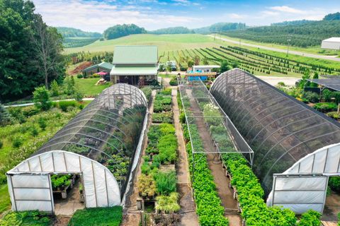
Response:
[[[119,83],[96,97],[30,158],[7,172],[13,210],[54,213],[51,177],[80,175],[86,208],[124,203],[147,126],[147,99]]]

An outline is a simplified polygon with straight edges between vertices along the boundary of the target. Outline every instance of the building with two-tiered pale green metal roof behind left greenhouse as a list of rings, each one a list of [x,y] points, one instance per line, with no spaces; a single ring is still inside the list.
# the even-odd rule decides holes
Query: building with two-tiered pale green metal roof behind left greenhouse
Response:
[[[147,85],[157,80],[158,47],[147,45],[115,46],[113,68],[110,76],[113,83]]]

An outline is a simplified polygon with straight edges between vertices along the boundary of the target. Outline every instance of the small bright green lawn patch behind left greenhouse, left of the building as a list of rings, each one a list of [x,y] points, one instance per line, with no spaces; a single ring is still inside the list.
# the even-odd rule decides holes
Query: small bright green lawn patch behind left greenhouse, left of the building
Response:
[[[85,97],[96,97],[103,90],[110,86],[110,83],[104,85],[96,85],[99,78],[77,78],[74,76],[74,81],[78,85],[81,93],[84,93]]]

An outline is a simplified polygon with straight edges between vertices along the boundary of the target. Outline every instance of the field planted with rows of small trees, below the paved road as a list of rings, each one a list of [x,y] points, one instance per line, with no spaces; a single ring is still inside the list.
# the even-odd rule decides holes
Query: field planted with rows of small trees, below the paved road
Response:
[[[179,67],[188,67],[188,60],[197,58],[201,64],[221,64],[227,60],[229,64],[239,69],[244,69],[256,76],[277,76],[301,78],[305,69],[310,73],[336,73],[340,71],[339,65],[317,64],[318,61],[300,61],[300,59],[285,59],[278,54],[257,52],[242,47],[208,47],[200,49],[181,49],[162,52],[159,61],[176,61]],[[198,63],[200,63],[198,62]],[[334,66],[334,67],[333,67]]]

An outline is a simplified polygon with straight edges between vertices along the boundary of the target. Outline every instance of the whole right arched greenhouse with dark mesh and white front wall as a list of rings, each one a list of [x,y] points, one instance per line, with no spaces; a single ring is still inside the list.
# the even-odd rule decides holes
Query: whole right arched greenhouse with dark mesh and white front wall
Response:
[[[339,122],[240,69],[210,92],[254,150],[267,205],[322,213],[328,179],[340,175]]]

